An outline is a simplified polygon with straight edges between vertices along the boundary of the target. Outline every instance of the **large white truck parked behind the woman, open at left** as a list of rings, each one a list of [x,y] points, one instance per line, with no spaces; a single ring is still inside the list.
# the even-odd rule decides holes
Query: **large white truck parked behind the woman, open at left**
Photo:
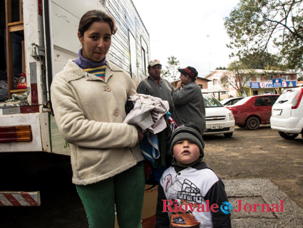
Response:
[[[12,20],[18,18],[11,9],[12,4],[14,0],[5,0],[6,29],[2,37],[6,43],[9,101],[0,103],[0,160],[4,164],[14,156],[14,162],[31,163],[34,169],[43,166],[52,156],[60,160],[70,155],[68,142],[58,132],[53,117],[50,86],[53,76],[63,70],[68,59],[78,57],[81,43],[77,32],[81,16],[92,9],[113,16],[118,31],[106,57],[130,73],[135,85],[146,75],[150,37],[131,0],[19,0],[17,21]],[[13,76],[16,71],[13,68],[14,33],[22,34],[24,39],[21,58],[26,88],[23,89],[15,88]],[[41,154],[48,154],[47,159],[38,159]],[[1,170],[1,175],[4,172],[9,171]],[[41,204],[39,190],[26,192],[18,183],[16,186],[20,189],[6,189],[1,185],[0,206]]]

